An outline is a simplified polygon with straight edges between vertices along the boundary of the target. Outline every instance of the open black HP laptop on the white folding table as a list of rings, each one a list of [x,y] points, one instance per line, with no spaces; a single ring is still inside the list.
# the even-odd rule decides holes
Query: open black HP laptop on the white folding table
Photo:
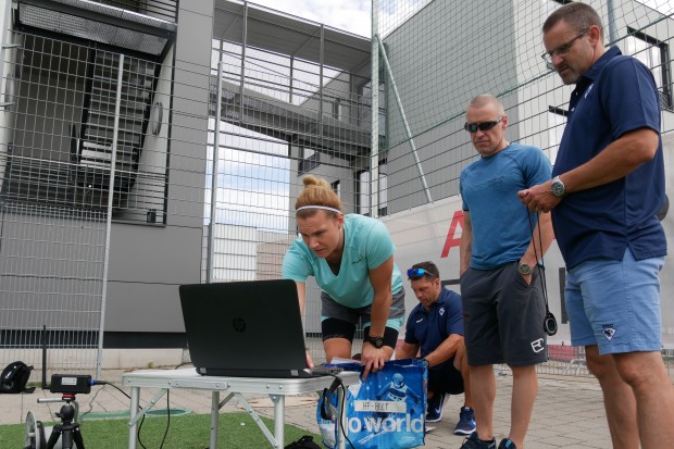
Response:
[[[187,345],[207,376],[316,377],[307,370],[297,287],[290,279],[178,288]]]

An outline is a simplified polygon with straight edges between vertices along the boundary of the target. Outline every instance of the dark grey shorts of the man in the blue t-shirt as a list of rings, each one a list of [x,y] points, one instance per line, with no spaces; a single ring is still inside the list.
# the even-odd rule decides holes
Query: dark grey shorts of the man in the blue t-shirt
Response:
[[[531,285],[517,273],[517,262],[469,269],[461,276],[461,302],[469,365],[525,366],[548,360],[539,267]]]

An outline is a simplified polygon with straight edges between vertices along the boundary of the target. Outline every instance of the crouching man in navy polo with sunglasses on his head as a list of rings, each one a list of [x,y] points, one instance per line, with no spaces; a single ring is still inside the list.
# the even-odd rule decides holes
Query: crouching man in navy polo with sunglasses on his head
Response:
[[[404,342],[396,349],[396,359],[419,354],[428,362],[427,423],[442,419],[447,394],[464,392],[454,434],[471,435],[475,431],[475,414],[463,344],[461,297],[440,285],[440,274],[433,262],[413,265],[408,270],[408,278],[419,304],[408,317]]]

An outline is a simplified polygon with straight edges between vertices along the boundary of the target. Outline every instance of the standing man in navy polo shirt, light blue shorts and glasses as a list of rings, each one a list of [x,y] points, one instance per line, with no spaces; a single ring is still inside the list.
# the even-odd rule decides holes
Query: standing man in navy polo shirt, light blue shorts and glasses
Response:
[[[674,442],[674,388],[661,357],[659,272],[666,241],[660,98],[644,64],[604,49],[589,5],[573,2],[542,27],[544,59],[575,84],[553,179],[519,192],[552,211],[566,262],[572,344],[603,390],[613,447]]]

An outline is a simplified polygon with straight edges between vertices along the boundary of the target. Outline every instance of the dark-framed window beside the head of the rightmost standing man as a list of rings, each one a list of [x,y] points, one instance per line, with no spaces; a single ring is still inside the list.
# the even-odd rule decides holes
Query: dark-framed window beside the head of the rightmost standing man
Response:
[[[632,54],[650,68],[660,91],[662,107],[672,109],[672,80],[667,65],[669,46],[633,28],[627,28],[627,30],[631,36],[627,36],[625,40],[626,53]]]

